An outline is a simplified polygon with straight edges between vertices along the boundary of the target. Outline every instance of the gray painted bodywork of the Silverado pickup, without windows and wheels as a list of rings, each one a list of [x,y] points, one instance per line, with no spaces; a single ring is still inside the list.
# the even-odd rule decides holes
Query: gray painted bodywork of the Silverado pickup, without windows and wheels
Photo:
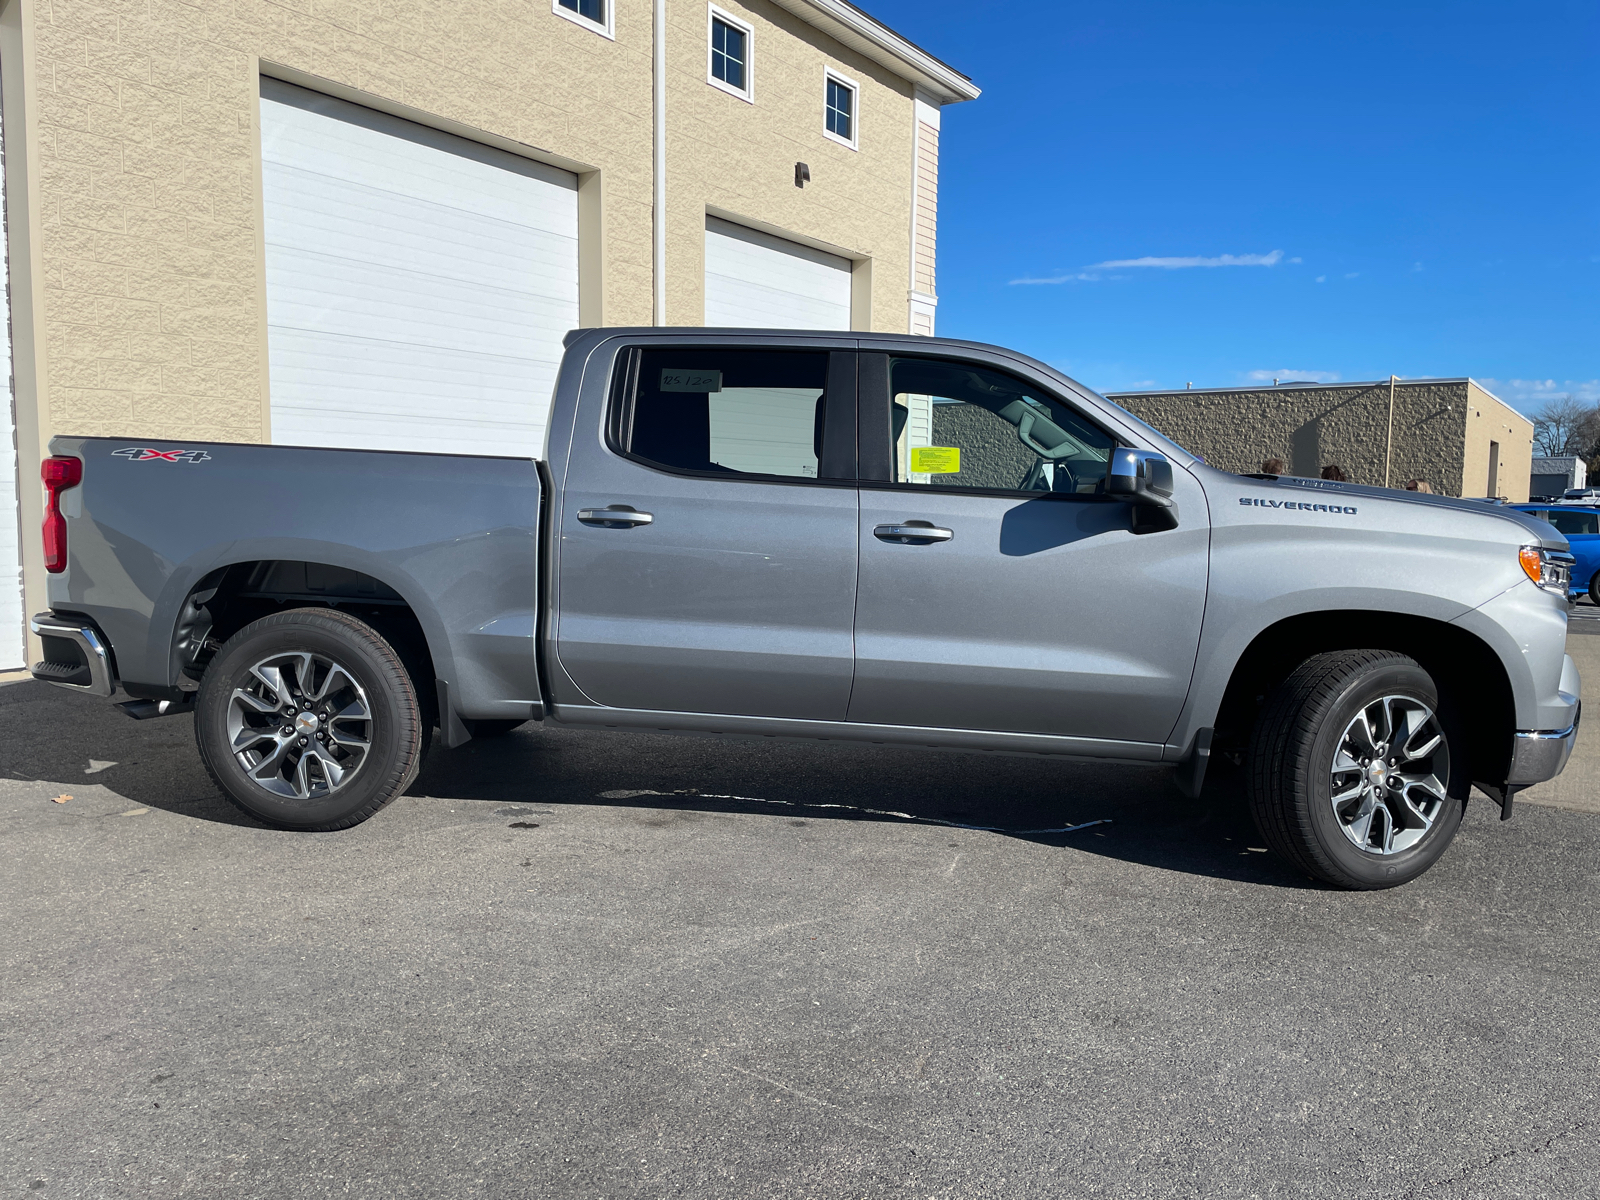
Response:
[[[634,346],[949,355],[1051,390],[1173,464],[1179,526],[1131,534],[1120,501],[1032,501],[893,485],[706,480],[605,438]],[[125,682],[176,682],[178,610],[208,571],[304,560],[370,574],[416,611],[462,717],[864,738],[1130,762],[1178,760],[1216,720],[1251,642],[1288,618],[1451,622],[1504,664],[1515,723],[1570,730],[1565,602],[1518,566],[1565,549],[1507,509],[1318,480],[1258,480],[1181,446],[1051,368],[992,346],[771,330],[590,330],[568,338],[549,422],[554,480],[525,459],[208,445],[131,462],[139,440],[58,438],[66,494],[56,610],[104,630]],[[186,443],[181,448],[197,448]],[[629,504],[637,528],[578,510]],[[952,542],[890,546],[880,522]],[[859,578],[858,578],[859,576]],[[541,605],[539,589],[546,589]],[[549,694],[541,694],[542,666]],[[1510,730],[1507,730],[1507,734]]]

